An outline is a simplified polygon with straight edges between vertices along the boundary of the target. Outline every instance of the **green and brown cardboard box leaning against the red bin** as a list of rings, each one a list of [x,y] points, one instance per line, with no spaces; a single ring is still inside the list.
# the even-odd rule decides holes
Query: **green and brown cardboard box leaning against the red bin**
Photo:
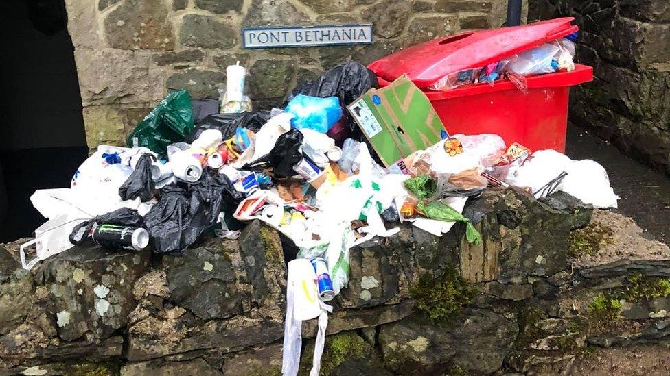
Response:
[[[406,75],[369,90],[347,110],[384,166],[395,172],[406,171],[403,159],[414,151],[448,138],[428,97]]]

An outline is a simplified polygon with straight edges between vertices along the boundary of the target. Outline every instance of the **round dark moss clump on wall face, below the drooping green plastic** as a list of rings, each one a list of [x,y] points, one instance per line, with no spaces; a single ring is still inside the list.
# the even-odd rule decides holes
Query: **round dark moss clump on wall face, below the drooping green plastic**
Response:
[[[476,288],[454,268],[448,268],[437,277],[421,275],[417,284],[411,288],[411,297],[417,301],[417,312],[435,323],[456,316],[476,294]]]

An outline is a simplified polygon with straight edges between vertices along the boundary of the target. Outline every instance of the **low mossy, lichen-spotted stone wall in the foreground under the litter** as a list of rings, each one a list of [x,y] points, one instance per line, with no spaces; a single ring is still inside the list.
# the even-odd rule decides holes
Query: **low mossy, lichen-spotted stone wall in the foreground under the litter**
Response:
[[[670,249],[628,218],[513,189],[463,214],[481,245],[402,225],[351,249],[322,375],[570,374],[588,347],[670,338]],[[25,271],[4,245],[0,375],[280,375],[282,251],[258,221],[181,257],[80,246]]]

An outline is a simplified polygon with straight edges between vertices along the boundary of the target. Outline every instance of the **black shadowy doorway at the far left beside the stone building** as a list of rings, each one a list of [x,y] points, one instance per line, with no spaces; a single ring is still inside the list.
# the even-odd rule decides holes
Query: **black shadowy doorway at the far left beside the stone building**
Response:
[[[82,100],[63,0],[0,3],[0,241],[45,219],[36,189],[69,187],[86,158]]]

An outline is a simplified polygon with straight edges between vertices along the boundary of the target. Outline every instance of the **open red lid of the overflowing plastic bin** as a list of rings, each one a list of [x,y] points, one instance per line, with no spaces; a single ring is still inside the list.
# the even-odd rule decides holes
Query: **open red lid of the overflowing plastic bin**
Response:
[[[387,81],[406,74],[419,88],[426,88],[449,73],[486,66],[577,32],[577,25],[570,24],[574,19],[555,18],[438,38],[392,53],[368,68]]]

